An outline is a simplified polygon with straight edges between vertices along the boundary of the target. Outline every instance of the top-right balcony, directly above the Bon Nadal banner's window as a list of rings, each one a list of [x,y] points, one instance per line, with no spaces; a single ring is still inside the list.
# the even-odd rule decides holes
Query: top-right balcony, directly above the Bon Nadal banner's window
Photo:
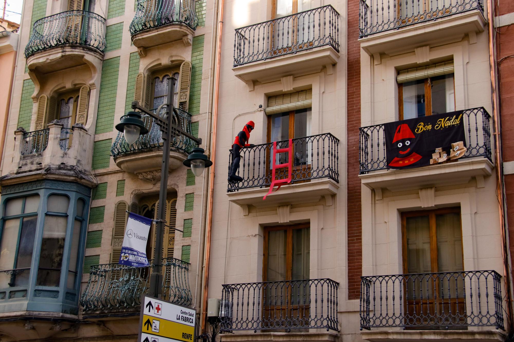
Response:
[[[459,42],[486,24],[483,0],[360,0],[359,11],[360,45],[370,55]]]

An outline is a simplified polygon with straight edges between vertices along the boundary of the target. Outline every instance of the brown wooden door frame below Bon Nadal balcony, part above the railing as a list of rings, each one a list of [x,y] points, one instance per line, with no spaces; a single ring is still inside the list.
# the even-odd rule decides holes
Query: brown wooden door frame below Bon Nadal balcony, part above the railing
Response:
[[[415,211],[415,212],[403,212],[401,213],[401,239],[402,239],[402,262],[403,262],[403,273],[408,273],[408,258],[407,258],[407,217],[416,217],[416,216],[428,216],[429,224],[430,224],[430,272],[436,273],[437,270],[437,231],[435,226],[435,216],[439,214],[450,214],[455,213],[459,214],[461,217],[461,208],[460,207],[451,207],[451,208],[442,208],[436,210],[425,210],[425,211]],[[462,218],[460,219],[461,225],[461,243],[462,242]],[[463,246],[464,250],[464,246]],[[464,253],[462,263],[464,265]]]

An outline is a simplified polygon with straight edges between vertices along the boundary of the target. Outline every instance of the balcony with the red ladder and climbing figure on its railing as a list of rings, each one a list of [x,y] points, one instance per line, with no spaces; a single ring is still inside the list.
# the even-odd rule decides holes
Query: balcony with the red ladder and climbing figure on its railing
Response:
[[[292,185],[284,184],[279,192],[263,201],[272,181],[273,143],[245,147],[241,149],[241,163],[237,172],[243,181],[228,183],[229,200],[241,206],[270,206],[316,202],[322,196],[335,195],[339,188],[339,139],[325,133],[292,139],[292,144]],[[288,140],[277,142],[280,148],[288,145]],[[285,154],[277,154],[276,164],[286,162]],[[231,164],[230,153],[229,167]],[[277,169],[276,179],[287,176],[287,168]]]

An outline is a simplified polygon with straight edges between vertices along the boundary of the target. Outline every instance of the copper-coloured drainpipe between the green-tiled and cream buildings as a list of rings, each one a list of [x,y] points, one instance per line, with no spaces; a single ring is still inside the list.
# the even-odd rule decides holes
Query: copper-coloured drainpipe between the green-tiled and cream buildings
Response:
[[[214,198],[214,170],[216,167],[216,135],[217,135],[217,122],[218,122],[218,97],[219,97],[219,71],[221,69],[221,55],[222,55],[222,34],[223,34],[223,7],[224,0],[219,1],[218,5],[218,31],[216,43],[216,69],[215,69],[215,82],[213,92],[213,110],[212,110],[212,146],[211,146],[211,161],[212,166],[209,168],[209,199],[207,209],[207,227],[205,236],[205,267],[204,267],[204,281],[203,293],[201,302],[201,332],[205,333],[207,323],[207,299],[209,298],[209,258],[211,255],[211,230],[212,230],[212,202]]]

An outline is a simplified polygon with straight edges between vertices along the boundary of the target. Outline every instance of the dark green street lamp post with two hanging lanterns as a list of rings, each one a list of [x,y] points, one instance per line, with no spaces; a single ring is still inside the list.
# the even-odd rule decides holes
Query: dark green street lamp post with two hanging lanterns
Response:
[[[177,135],[185,136],[193,140],[196,144],[201,144],[201,139],[193,137],[191,134],[173,123],[173,116],[176,115],[177,123],[180,124],[180,116],[177,109],[173,106],[173,89],[175,88],[176,79],[173,77],[168,78],[168,100],[166,104],[162,104],[156,110],[156,113],[142,107],[139,102],[132,102],[132,109],[139,110],[155,120],[162,133],[162,165],[161,165],[161,181],[159,191],[159,206],[158,215],[156,220],[156,239],[155,239],[155,252],[154,252],[154,265],[152,274],[150,275],[150,289],[149,294],[153,297],[160,298],[162,293],[162,237],[164,235],[164,227],[168,226],[164,215],[166,214],[166,199],[168,196],[168,166],[170,164],[170,148],[171,142]],[[166,110],[162,111],[161,108],[166,106]],[[161,113],[162,112],[162,113]],[[148,129],[144,126],[141,120],[141,115],[136,111],[130,111],[121,118],[116,129],[123,132],[125,140],[129,144],[136,142],[140,135],[148,133]],[[183,164],[191,167],[195,176],[201,176],[205,167],[212,165],[212,162],[204,154],[204,149],[195,147],[191,150],[188,159],[183,161]]]

